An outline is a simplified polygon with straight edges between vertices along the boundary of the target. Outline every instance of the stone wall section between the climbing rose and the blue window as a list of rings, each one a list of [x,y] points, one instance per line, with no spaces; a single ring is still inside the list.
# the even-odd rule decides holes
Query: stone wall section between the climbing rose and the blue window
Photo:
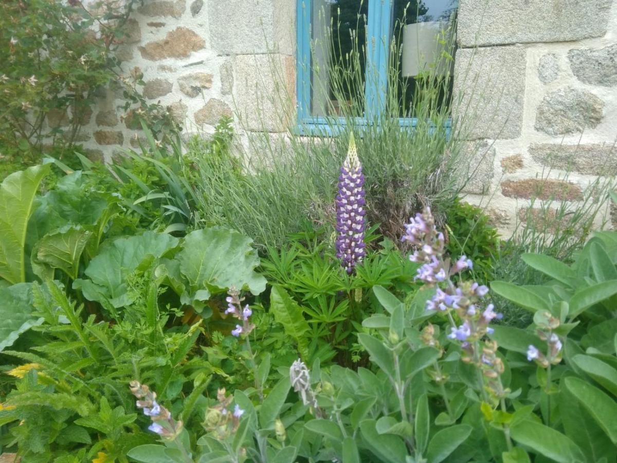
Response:
[[[143,72],[144,96],[168,107],[185,133],[212,133],[220,117],[233,115],[246,140],[251,131],[284,131],[284,121],[260,115],[281,98],[276,82],[293,98],[295,37],[295,0],[144,0],[118,57],[126,75]],[[101,93],[81,131],[93,156],[109,160],[138,146],[141,131],[123,103]]]

